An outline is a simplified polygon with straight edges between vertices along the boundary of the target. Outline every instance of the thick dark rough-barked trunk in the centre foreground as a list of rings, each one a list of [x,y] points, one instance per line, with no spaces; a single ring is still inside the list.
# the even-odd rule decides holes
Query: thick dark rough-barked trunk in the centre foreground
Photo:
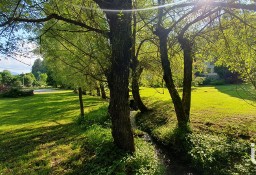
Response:
[[[102,1],[100,1],[102,2]],[[114,0],[114,9],[131,9],[131,0]],[[104,6],[103,6],[104,7]],[[109,7],[109,5],[106,5]],[[134,138],[129,109],[129,67],[131,58],[131,14],[106,12],[112,47],[111,68],[108,75],[110,89],[109,114],[114,143],[127,152],[134,152]]]

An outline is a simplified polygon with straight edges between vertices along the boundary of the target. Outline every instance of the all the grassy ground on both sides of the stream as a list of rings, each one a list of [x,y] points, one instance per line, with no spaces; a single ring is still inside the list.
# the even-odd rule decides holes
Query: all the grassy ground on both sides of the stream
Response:
[[[242,86],[193,88],[189,149],[175,147],[177,122],[167,90],[141,88],[141,95],[151,110],[136,116],[139,129],[168,150],[187,151],[188,166],[198,174],[256,172],[249,160],[256,107]],[[83,98],[85,118],[71,91],[0,98],[0,174],[163,174],[163,162],[141,131],[135,131],[136,153],[123,153],[113,144],[108,102]]]

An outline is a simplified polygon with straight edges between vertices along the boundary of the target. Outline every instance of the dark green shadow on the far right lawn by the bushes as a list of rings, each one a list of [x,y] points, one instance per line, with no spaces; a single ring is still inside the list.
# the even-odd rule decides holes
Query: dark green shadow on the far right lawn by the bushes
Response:
[[[221,85],[215,86],[221,93],[225,93],[232,97],[240,98],[242,100],[250,100],[256,102],[256,90],[247,84],[238,85]]]

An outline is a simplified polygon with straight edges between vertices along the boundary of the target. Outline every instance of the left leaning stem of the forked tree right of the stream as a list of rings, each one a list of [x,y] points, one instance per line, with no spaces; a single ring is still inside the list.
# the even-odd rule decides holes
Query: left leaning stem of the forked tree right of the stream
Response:
[[[168,59],[167,37],[168,37],[169,31],[159,27],[155,31],[155,34],[159,37],[159,41],[160,41],[160,57],[161,57],[161,63],[162,63],[162,68],[164,72],[163,79],[166,83],[166,87],[171,95],[171,98],[174,104],[174,109],[175,109],[177,120],[178,120],[178,127],[187,128],[189,119],[185,114],[184,106],[180,98],[180,95],[177,89],[175,88],[172,71],[170,67],[170,61]]]

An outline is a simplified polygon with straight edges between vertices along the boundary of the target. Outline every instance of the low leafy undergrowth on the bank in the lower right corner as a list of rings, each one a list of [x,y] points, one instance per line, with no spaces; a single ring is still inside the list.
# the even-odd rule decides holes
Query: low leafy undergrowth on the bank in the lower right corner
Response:
[[[249,144],[224,135],[191,134],[192,166],[201,174],[255,174]]]

